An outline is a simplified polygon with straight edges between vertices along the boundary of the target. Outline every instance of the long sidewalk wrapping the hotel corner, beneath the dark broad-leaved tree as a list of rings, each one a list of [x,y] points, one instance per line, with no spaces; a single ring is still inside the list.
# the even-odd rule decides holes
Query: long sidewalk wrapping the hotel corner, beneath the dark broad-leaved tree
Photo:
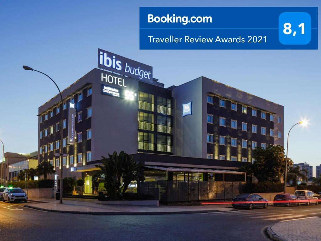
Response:
[[[130,206],[130,205],[106,205],[93,203],[92,201],[67,200],[63,204],[54,199],[32,199],[42,203],[26,204],[25,207],[63,213],[93,214],[93,215],[153,215],[153,214],[186,214],[205,212],[237,211],[227,207],[214,205],[200,206]],[[46,201],[46,202],[45,202]]]

